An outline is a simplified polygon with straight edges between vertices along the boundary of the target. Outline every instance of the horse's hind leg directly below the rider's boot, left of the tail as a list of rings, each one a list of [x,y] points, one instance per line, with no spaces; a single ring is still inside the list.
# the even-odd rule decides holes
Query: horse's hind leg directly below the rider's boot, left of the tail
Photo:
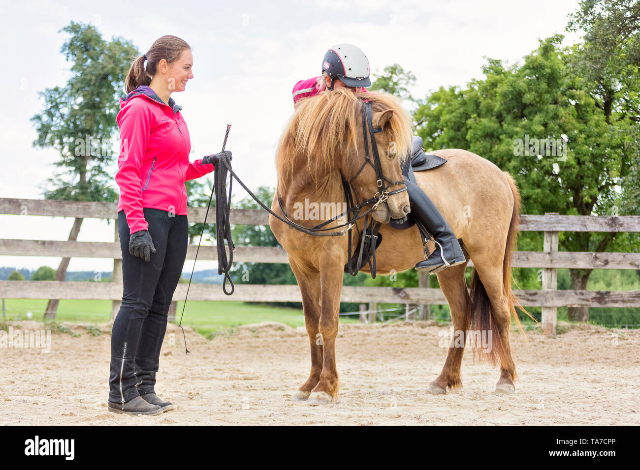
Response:
[[[461,345],[458,341],[453,341],[452,344],[449,344],[449,352],[447,353],[447,360],[444,363],[442,372],[440,372],[438,378],[433,380],[427,388],[429,393],[435,395],[447,393],[447,389],[455,390],[462,386],[460,364],[462,362],[462,355],[465,352],[465,334],[468,330],[470,320],[468,317],[469,294],[467,281],[465,280],[466,267],[467,263],[463,263],[442,270],[436,274],[440,288],[445,297],[447,297],[449,309],[451,309],[454,338],[450,339],[455,340],[456,334],[462,334],[463,336],[461,337]]]

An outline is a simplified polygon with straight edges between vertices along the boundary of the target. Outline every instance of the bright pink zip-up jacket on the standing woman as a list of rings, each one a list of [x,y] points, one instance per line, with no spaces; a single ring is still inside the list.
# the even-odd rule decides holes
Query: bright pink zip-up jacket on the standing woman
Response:
[[[165,104],[151,88],[141,86],[123,100],[116,118],[120,155],[116,183],[118,212],[125,211],[129,231],[148,230],[143,208],[187,215],[184,182],[214,170],[202,159],[189,162],[191,141],[180,106]]]

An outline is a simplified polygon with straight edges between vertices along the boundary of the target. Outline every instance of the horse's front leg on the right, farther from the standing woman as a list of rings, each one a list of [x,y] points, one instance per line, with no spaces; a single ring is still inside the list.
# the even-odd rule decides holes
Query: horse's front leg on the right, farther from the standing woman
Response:
[[[342,292],[344,253],[325,253],[320,268],[320,323],[316,343],[323,345],[323,366],[320,380],[312,390],[310,405],[324,405],[335,402],[338,395],[338,371],[335,364],[335,338],[338,334],[340,315],[340,294]]]

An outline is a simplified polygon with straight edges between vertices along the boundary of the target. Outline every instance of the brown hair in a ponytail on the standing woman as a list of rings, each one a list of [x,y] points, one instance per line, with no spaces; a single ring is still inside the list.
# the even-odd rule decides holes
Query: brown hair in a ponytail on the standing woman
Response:
[[[147,54],[140,56],[131,64],[129,73],[124,81],[125,90],[127,93],[136,90],[141,85],[148,85],[151,83],[153,75],[156,73],[156,67],[159,61],[166,60],[167,63],[172,64],[182,54],[185,49],[191,49],[191,46],[184,40],[177,36],[166,35],[157,39],[151,45]],[[145,68],[145,55],[147,56],[147,67]]]

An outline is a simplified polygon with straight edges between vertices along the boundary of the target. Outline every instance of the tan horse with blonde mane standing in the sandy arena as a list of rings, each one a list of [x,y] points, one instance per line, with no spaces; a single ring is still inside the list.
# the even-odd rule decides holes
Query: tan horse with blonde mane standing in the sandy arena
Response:
[[[413,135],[408,114],[391,95],[335,90],[305,98],[285,125],[278,143],[278,187],[271,210],[289,217],[297,208],[295,222],[312,228],[330,217],[300,217],[301,205],[317,208],[336,203],[342,207],[343,178],[353,180],[353,190],[361,200],[379,194],[376,191],[380,181],[376,184],[374,166],[363,164],[367,135],[361,116],[365,100],[371,102],[373,126],[380,129],[374,134],[380,168],[385,179],[394,182],[390,189],[396,189],[371,212],[381,223],[379,233],[383,240],[376,249],[377,272],[390,274],[413,269],[425,256],[417,226],[396,230],[388,225],[391,219],[403,219],[410,212],[407,193],[400,190],[404,184],[401,167],[409,158]],[[480,351],[476,345],[474,357],[479,352],[494,366],[499,364],[495,391],[513,393],[517,375],[509,343],[511,318],[524,334],[515,310],[516,306],[522,307],[511,290],[511,251],[518,235],[520,212],[518,189],[509,173],[475,153],[461,149],[432,153],[447,162],[415,173],[417,184],[460,240],[467,263],[474,263],[474,273],[470,290],[465,280],[467,263],[436,274],[449,303],[454,330],[463,334],[463,340],[455,344],[451,341],[442,372],[426,391],[439,395],[461,388],[460,366],[467,336],[483,332],[491,338],[490,351]],[[340,212],[337,210],[338,215]],[[343,215],[335,223],[344,224],[345,220]],[[348,262],[348,237],[313,237],[273,215],[269,215],[269,227],[287,251],[300,286],[311,351],[309,377],[292,398],[312,405],[333,403],[339,389],[335,339],[344,266]],[[359,219],[342,232],[346,234],[350,229],[357,244],[362,228],[363,220]],[[370,272],[368,267],[362,270]]]

